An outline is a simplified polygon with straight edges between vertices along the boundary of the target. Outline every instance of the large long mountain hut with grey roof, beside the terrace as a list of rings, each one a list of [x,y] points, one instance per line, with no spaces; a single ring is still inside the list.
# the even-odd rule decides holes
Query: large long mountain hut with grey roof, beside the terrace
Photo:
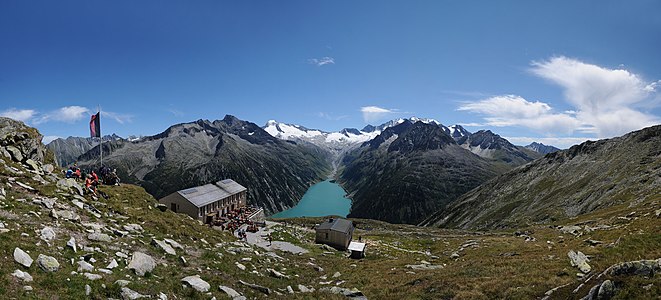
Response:
[[[159,203],[177,213],[205,221],[209,214],[222,216],[246,206],[248,189],[232,179],[193,187],[167,195]]]

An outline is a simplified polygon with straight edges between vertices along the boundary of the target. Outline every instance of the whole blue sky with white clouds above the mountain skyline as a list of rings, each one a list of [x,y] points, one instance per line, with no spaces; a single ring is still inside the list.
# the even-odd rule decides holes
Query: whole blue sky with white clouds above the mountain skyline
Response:
[[[0,115],[48,139],[232,114],[567,147],[661,119],[659,1],[1,1]]]

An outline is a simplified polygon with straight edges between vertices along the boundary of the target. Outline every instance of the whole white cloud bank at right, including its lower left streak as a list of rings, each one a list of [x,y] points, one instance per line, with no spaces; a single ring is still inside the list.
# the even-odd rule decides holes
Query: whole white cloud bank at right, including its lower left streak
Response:
[[[531,72],[559,85],[572,109],[555,112],[544,102],[501,95],[464,103],[458,110],[481,114],[490,126],[522,126],[546,136],[582,132],[606,138],[661,122],[658,116],[640,110],[658,102],[661,81],[646,83],[626,70],[566,57],[532,62]]]

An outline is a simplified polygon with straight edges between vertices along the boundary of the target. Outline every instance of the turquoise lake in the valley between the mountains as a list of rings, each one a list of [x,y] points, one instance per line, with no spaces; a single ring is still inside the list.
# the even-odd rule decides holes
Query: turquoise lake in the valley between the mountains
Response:
[[[346,217],[351,209],[347,192],[330,180],[311,186],[298,204],[288,210],[272,215],[273,218],[323,217],[337,215]]]

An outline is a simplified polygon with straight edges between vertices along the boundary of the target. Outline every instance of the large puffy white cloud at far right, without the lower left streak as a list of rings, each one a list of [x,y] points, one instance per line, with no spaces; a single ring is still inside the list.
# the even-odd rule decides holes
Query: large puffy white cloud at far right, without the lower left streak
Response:
[[[622,69],[608,69],[567,57],[533,62],[533,74],[563,88],[576,118],[597,137],[612,137],[659,123],[659,117],[637,110],[653,100],[659,81],[646,83]]]

